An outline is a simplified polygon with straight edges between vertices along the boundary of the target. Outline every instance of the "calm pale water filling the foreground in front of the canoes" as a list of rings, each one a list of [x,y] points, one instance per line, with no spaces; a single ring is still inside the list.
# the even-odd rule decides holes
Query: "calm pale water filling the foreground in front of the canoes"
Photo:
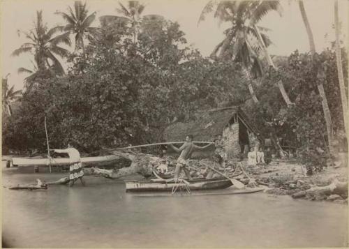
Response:
[[[14,174],[3,186],[63,174]],[[348,241],[344,205],[251,195],[131,197],[87,176],[73,188],[3,188],[3,240],[17,248],[334,247]]]

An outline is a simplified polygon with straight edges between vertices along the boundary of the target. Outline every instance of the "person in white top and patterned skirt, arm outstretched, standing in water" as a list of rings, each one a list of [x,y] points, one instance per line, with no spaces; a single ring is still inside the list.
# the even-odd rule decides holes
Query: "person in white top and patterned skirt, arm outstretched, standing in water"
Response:
[[[69,187],[73,187],[77,179],[80,179],[82,186],[85,186],[84,179],[82,179],[82,177],[84,176],[84,169],[82,169],[79,151],[73,148],[70,143],[68,143],[67,149],[53,149],[52,151],[56,153],[67,153],[69,156]]]

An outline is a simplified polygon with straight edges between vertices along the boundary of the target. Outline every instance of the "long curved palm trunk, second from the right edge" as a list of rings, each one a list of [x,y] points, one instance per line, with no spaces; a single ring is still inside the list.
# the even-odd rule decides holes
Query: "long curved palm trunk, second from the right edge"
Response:
[[[313,38],[313,32],[311,31],[311,26],[308,20],[308,17],[306,15],[306,10],[304,8],[304,3],[302,0],[298,1],[299,5],[299,11],[302,15],[302,19],[304,22],[304,26],[306,28],[306,33],[308,34],[308,40],[309,40],[309,47],[310,47],[310,52],[311,56],[314,56],[316,50],[315,50],[315,42]],[[332,146],[332,117],[331,113],[329,112],[329,106],[327,103],[327,98],[325,94],[325,89],[323,86],[323,82],[325,81],[325,72],[323,70],[324,68],[320,67],[319,73],[318,73],[318,91],[322,99],[322,110],[324,112],[325,116],[325,122],[326,122],[326,130],[327,130],[327,140],[329,144],[329,151],[333,153],[333,146]]]

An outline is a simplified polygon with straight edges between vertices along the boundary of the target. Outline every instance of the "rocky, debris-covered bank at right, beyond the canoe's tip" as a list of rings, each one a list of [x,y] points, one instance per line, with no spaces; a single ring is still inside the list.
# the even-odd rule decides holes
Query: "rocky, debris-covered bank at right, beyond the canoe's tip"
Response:
[[[271,195],[348,204],[348,187],[341,193],[330,190],[336,182],[348,183],[348,167],[345,165],[324,167],[322,171],[307,176],[306,168],[297,160],[273,160],[269,165],[248,167],[246,172],[256,183],[266,186],[265,193]]]

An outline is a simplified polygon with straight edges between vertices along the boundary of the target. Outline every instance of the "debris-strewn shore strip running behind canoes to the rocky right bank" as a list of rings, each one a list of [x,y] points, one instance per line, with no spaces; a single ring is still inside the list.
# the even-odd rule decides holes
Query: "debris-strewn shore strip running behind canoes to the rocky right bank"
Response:
[[[176,165],[176,159],[172,157],[158,158],[154,165],[153,169],[159,169],[159,166],[166,165],[168,172],[166,173],[168,177],[173,177],[174,167]],[[205,177],[207,176],[209,170],[205,169],[205,165],[212,162],[204,160],[189,160],[191,165],[191,176],[195,177]],[[3,169],[6,162],[3,161]],[[246,170],[246,174],[241,172],[239,165],[242,165]],[[118,171],[118,167],[109,168],[109,173],[112,175],[114,172]],[[53,167],[52,170],[56,173],[61,172],[62,167]],[[34,173],[34,166],[32,167],[10,167],[6,168],[6,171],[9,174],[30,174]],[[47,173],[48,167],[40,167],[40,173]],[[94,172],[91,171],[91,168],[84,168],[86,176],[93,175]],[[313,175],[306,175],[306,168],[304,165],[297,163],[297,160],[281,160],[274,159],[269,165],[257,165],[254,167],[247,167],[246,160],[242,162],[228,162],[227,167],[225,168],[225,174],[229,177],[235,176],[237,173],[239,176],[236,176],[235,179],[244,182],[249,187],[258,186],[265,187],[265,193],[269,195],[290,195],[294,198],[301,199],[310,199],[316,201],[328,201],[335,202],[339,204],[348,204],[348,186],[344,186],[344,189],[341,191],[334,190],[336,184],[346,185],[348,182],[348,167],[344,163],[336,162],[333,165],[324,167],[320,172],[314,172]],[[68,172],[66,172],[68,174]],[[34,174],[35,178],[40,178],[40,174]],[[97,176],[98,175],[94,175]],[[100,174],[99,177],[105,175]],[[56,175],[59,180],[58,174]],[[185,176],[184,176],[185,177]],[[222,177],[219,174],[216,174],[214,177]],[[122,177],[122,179],[142,179],[143,177],[139,174],[133,174],[131,176]],[[251,179],[249,179],[251,178]],[[45,181],[45,179],[40,179]],[[337,184],[337,185],[338,185]],[[328,186],[328,189],[327,187]],[[320,187],[320,189],[319,189]],[[324,189],[325,188],[325,189]],[[314,191],[315,189],[315,191]]]

